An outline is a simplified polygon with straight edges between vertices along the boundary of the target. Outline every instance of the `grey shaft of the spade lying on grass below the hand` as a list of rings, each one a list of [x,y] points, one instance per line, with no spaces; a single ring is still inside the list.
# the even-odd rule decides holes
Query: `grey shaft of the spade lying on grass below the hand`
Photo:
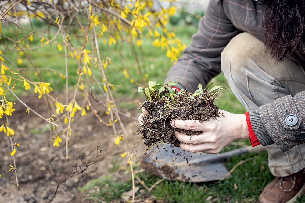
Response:
[[[224,152],[224,153],[221,153],[221,154],[217,154],[216,156],[213,156],[213,157],[203,158],[199,161],[199,163],[218,162],[218,161],[226,160],[226,159],[228,159],[232,156],[235,156],[235,155],[240,156],[242,154],[247,154],[247,153],[250,153],[250,152],[254,152],[254,153],[258,154],[258,153],[263,152],[263,151],[265,151],[265,147],[263,147],[262,145],[257,145],[255,147],[247,146],[247,147],[242,147],[242,148],[235,149],[235,150],[232,150],[232,151],[229,151],[229,152]]]

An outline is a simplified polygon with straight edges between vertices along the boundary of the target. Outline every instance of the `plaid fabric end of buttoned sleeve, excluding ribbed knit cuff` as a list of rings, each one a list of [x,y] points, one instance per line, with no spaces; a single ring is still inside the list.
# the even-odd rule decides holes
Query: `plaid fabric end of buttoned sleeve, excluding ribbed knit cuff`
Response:
[[[300,92],[294,97],[287,95],[258,107],[265,129],[282,152],[305,142],[304,93],[305,91]],[[291,114],[296,120],[287,120]],[[289,121],[295,123],[291,124]]]

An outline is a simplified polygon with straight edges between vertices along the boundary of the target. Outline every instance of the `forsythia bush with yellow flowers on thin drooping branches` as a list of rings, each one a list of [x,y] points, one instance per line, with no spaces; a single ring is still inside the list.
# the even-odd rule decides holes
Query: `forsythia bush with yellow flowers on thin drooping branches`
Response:
[[[18,98],[14,90],[23,89],[23,91],[33,91],[37,93],[37,97],[45,96],[48,101],[48,108],[53,109],[52,115],[48,118],[42,117],[35,112],[27,104],[27,112],[33,112],[42,119],[50,123],[52,129],[60,129],[60,133],[54,133],[52,137],[53,146],[59,146],[63,139],[66,140],[66,158],[68,155],[68,139],[73,134],[71,122],[76,112],[81,111],[81,116],[85,116],[91,110],[106,126],[112,126],[116,133],[113,123],[120,122],[120,126],[124,132],[123,135],[116,135],[114,138],[115,144],[119,145],[120,140],[126,136],[124,125],[120,121],[120,112],[117,110],[111,89],[115,88],[115,84],[108,82],[104,70],[109,68],[111,64],[110,56],[101,56],[101,46],[115,46],[117,43],[126,43],[131,47],[141,46],[147,38],[153,41],[153,45],[166,49],[166,56],[171,61],[177,60],[185,45],[181,40],[177,39],[175,33],[169,32],[166,24],[169,17],[174,15],[176,7],[174,0],[169,0],[170,6],[163,8],[158,1],[152,0],[14,0],[1,1],[0,4],[0,40],[2,48],[0,50],[0,95],[2,96],[0,105],[0,118],[14,114],[14,103],[6,99],[6,93],[12,94]],[[42,30],[31,30],[20,23],[20,18],[28,17],[30,19],[38,19],[45,21],[48,27]],[[5,25],[5,26],[4,26]],[[6,26],[15,28],[14,35],[5,35],[3,30]],[[56,34],[52,37],[46,37],[46,30],[55,29]],[[158,28],[159,27],[159,28]],[[2,28],[2,29],[1,29]],[[81,43],[73,44],[71,37],[76,36],[73,28],[77,28],[77,37]],[[158,28],[158,30],[156,29]],[[147,34],[148,33],[148,34]],[[41,45],[34,46],[33,40],[39,40]],[[60,54],[57,56],[63,57],[66,61],[61,72],[47,67],[36,67],[31,59],[31,53],[39,52],[41,47],[54,44]],[[54,47],[54,46],[53,46]],[[57,50],[56,50],[57,51]],[[28,72],[18,65],[23,63],[20,57],[14,61],[6,57],[6,53],[18,52],[20,56],[25,56],[32,66],[30,69],[33,75],[29,77]],[[53,51],[55,52],[55,51]],[[58,51],[57,51],[58,52]],[[49,53],[54,54],[52,50]],[[75,60],[77,67],[74,71],[77,73],[77,81],[73,88],[73,98],[66,103],[61,103],[51,96],[52,83],[43,81],[40,77],[42,73],[54,72],[61,79],[66,80],[66,92],[68,94],[68,80],[71,76],[68,75],[67,69],[68,60]],[[71,67],[70,67],[71,68]],[[128,70],[124,70],[124,75],[128,76]],[[96,77],[95,77],[96,75]],[[32,77],[33,76],[33,77]],[[102,78],[98,81],[97,78]],[[142,76],[139,81],[131,79],[130,82],[138,82],[144,85],[144,80],[147,75]],[[37,80],[34,80],[37,79]],[[23,86],[17,85],[21,81]],[[94,87],[99,88],[102,92],[103,99],[96,94]],[[5,91],[6,90],[6,91]],[[85,104],[78,104],[75,100],[76,93],[82,91],[87,101]],[[99,100],[109,114],[109,121],[103,121],[97,111],[92,107],[89,100],[89,92],[95,96],[95,100]],[[63,116],[64,115],[64,116]],[[62,120],[60,118],[63,118]],[[7,120],[9,121],[9,119]],[[12,136],[14,130],[9,127],[9,123],[4,123],[0,127],[0,131],[7,133],[11,140],[12,152],[14,156],[18,143],[13,144]],[[54,131],[56,132],[56,131]],[[22,143],[20,143],[22,145]],[[129,152],[128,152],[129,154]],[[122,154],[125,156],[126,152]],[[15,160],[15,159],[14,159]],[[130,159],[129,159],[130,161]],[[15,163],[14,163],[15,164]],[[16,171],[16,165],[10,165],[10,170]],[[18,182],[17,182],[18,185]]]

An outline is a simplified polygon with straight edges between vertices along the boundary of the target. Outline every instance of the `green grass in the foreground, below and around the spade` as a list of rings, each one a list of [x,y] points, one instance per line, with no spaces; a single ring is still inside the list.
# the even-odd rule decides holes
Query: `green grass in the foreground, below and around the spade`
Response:
[[[268,170],[267,156],[267,152],[262,152],[258,156],[248,154],[242,155],[241,157],[232,157],[226,162],[228,170],[231,170],[241,160],[248,158],[250,158],[250,160],[238,166],[233,170],[230,177],[218,184],[203,183],[197,185],[181,181],[163,180],[156,185],[151,192],[145,191],[142,196],[155,197],[156,199],[161,198],[165,202],[208,203],[210,201],[205,201],[207,198],[213,199],[216,202],[256,202],[254,199],[258,198],[260,192],[264,189],[264,186],[273,180],[273,177]],[[137,167],[134,170],[139,170],[139,168]],[[148,188],[160,180],[159,177],[155,177],[146,172],[138,173],[137,175]],[[131,178],[125,182],[122,182],[121,179],[114,179],[112,185],[110,185],[109,181],[111,179],[113,179],[112,175],[103,176],[92,180],[83,188],[79,189],[81,191],[87,191],[90,196],[97,198],[100,196],[103,198],[105,198],[105,196],[107,197],[114,186],[118,188],[118,184],[121,184],[120,188],[125,188],[125,191],[132,189]],[[108,190],[105,190],[105,185],[107,184],[107,187],[109,188]],[[135,180],[135,185],[145,189],[137,180]],[[115,193],[117,196],[111,197],[119,200],[124,191],[123,189],[116,189],[116,191],[119,191]],[[111,194],[113,194],[113,192]]]

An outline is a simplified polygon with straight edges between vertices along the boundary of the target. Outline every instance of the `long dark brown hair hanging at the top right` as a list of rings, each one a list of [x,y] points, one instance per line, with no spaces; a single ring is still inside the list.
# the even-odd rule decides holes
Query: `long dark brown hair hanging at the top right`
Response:
[[[305,28],[304,0],[262,0],[264,40],[277,61],[301,49]]]

